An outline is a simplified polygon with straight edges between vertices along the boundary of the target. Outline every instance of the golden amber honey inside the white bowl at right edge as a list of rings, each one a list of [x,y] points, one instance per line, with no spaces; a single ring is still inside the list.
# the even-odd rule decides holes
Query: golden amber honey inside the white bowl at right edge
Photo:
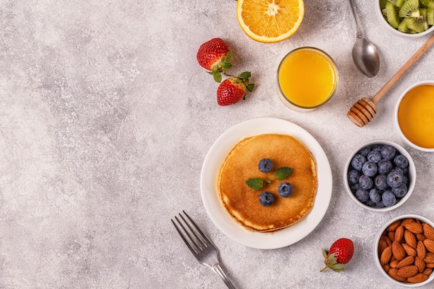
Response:
[[[422,148],[434,148],[434,85],[414,87],[403,96],[398,123],[410,142]]]

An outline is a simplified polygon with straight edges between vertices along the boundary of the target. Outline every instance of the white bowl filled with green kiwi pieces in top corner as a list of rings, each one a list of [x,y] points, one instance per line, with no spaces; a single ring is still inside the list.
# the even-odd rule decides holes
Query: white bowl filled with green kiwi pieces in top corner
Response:
[[[375,0],[380,21],[403,37],[434,31],[434,0]]]

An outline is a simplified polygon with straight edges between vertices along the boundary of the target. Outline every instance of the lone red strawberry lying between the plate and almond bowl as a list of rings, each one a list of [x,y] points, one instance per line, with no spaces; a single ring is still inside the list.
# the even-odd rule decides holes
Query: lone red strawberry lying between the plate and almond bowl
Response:
[[[354,244],[352,240],[347,238],[340,238],[331,244],[329,252],[322,249],[324,255],[324,263],[326,266],[322,268],[321,272],[330,268],[333,271],[345,271],[345,264],[347,264],[354,254]]]

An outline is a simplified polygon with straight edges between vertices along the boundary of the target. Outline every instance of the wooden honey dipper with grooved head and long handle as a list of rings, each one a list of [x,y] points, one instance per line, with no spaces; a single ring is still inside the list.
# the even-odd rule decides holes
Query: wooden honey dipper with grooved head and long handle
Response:
[[[415,64],[419,58],[424,55],[424,53],[434,44],[434,34],[422,45],[421,48],[419,48],[418,51],[416,51],[415,54],[406,62],[406,64],[403,64],[403,67],[397,71],[397,73],[390,78],[386,84],[381,87],[379,92],[377,92],[374,97],[367,98],[363,97],[359,100],[357,100],[356,103],[349,109],[347,112],[348,118],[359,128],[363,127],[364,125],[367,125],[372,119],[374,119],[374,116],[377,112],[377,108],[375,104],[382,98],[386,92],[403,76],[410,67]]]

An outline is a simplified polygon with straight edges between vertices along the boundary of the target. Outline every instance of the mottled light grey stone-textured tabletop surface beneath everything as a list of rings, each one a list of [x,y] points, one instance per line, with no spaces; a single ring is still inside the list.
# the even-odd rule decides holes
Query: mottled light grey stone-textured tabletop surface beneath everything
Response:
[[[396,288],[374,267],[373,238],[403,213],[434,220],[434,168],[432,154],[399,139],[392,111],[403,89],[434,78],[434,51],[356,128],[346,116],[352,103],[374,95],[427,39],[392,35],[374,1],[356,4],[381,53],[375,78],[352,63],[356,26],[344,0],[306,1],[300,30],[277,44],[243,33],[236,1],[0,1],[0,288],[225,288],[177,236],[170,218],[182,209],[218,245],[239,288]],[[213,37],[233,49],[233,73],[252,71],[257,87],[242,103],[219,107],[216,82],[196,62]],[[336,96],[308,114],[275,95],[279,60],[299,46],[324,49],[340,72]],[[268,116],[318,139],[333,195],[309,236],[260,250],[211,222],[200,170],[225,130]],[[414,194],[388,213],[361,209],[342,185],[349,153],[371,139],[403,145],[417,166]],[[354,240],[354,260],[345,273],[320,274],[320,248],[341,236]]]

